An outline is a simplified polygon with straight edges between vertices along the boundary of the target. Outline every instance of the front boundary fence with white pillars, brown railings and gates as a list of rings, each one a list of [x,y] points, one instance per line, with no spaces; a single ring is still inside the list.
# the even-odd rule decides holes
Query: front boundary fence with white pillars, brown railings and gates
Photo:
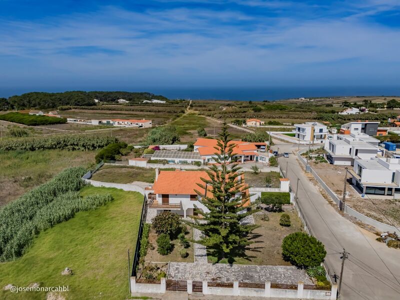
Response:
[[[136,279],[130,277],[130,291],[134,293],[164,293],[167,290],[182,291],[191,294],[202,292],[205,295],[231,296],[260,296],[303,299],[336,299],[336,284],[318,286],[314,284],[275,283],[275,282],[221,282],[221,281],[192,281],[161,278]]]

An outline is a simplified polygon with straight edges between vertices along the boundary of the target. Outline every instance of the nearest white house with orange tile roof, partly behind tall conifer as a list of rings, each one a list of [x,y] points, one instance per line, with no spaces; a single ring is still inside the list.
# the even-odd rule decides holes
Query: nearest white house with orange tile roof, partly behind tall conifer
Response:
[[[156,169],[155,181],[152,185],[152,190],[148,190],[147,198],[150,209],[156,209],[156,214],[168,210],[175,212],[183,217],[187,215],[196,215],[193,211],[195,207],[204,212],[208,212],[200,201],[201,195],[212,196],[211,188],[202,188],[198,184],[205,185],[201,178],[209,179],[205,171],[158,171]],[[237,177],[237,180],[243,180],[244,175]],[[249,193],[247,185],[243,184],[241,188],[244,200],[246,201],[243,206],[250,205]],[[238,196],[240,194],[237,194]]]

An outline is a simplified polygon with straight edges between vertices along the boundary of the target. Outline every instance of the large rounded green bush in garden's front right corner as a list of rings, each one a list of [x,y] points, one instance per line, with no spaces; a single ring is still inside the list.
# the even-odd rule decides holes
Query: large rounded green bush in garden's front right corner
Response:
[[[304,232],[294,232],[283,238],[282,256],[301,268],[318,266],[326,255],[323,244]]]

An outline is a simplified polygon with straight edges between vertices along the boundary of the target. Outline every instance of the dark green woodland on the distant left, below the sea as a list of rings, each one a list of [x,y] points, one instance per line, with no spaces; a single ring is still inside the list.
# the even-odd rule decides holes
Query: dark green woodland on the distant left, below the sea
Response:
[[[141,100],[160,99],[167,100],[162,95],[150,92],[127,92],[127,91],[65,91],[65,92],[28,92],[19,96],[0,98],[0,110],[27,109],[27,108],[56,108],[63,105],[89,106],[96,105],[94,99],[101,102],[117,102],[125,99],[131,102]]]

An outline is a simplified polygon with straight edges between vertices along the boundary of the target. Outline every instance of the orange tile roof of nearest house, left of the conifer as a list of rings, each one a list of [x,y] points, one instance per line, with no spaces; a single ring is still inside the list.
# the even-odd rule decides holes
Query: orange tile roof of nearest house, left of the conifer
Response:
[[[197,183],[204,183],[202,178],[209,179],[205,171],[160,171],[153,184],[154,193],[157,194],[191,194],[195,189],[201,192]]]

